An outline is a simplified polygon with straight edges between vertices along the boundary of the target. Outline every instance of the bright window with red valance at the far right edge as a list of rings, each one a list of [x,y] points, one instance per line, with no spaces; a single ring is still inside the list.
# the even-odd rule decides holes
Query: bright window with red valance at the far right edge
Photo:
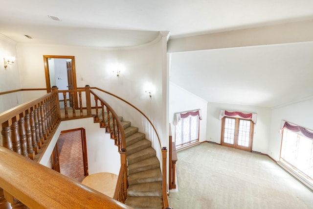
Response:
[[[282,132],[280,163],[313,186],[313,138],[310,137],[311,133],[300,126],[286,123]],[[304,130],[304,134],[301,133],[302,130]],[[301,179],[299,180],[301,181]]]

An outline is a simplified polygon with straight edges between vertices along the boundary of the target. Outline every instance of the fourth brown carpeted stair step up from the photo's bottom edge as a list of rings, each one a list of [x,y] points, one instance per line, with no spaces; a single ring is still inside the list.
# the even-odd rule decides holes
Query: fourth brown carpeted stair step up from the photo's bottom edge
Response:
[[[129,174],[138,173],[138,172],[151,170],[151,169],[159,168],[159,167],[160,167],[160,162],[158,161],[158,159],[156,157],[152,157],[152,158],[148,158],[146,160],[128,165],[128,173]]]

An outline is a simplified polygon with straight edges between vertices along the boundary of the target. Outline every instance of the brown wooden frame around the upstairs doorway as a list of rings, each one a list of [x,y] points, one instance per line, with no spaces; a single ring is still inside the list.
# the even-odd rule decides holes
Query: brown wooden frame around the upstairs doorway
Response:
[[[47,93],[51,92],[51,83],[50,83],[50,72],[49,72],[48,58],[72,59],[73,86],[74,86],[74,90],[76,90],[77,89],[77,84],[76,84],[75,57],[74,56],[61,56],[61,55],[44,55],[45,84],[46,84],[46,87],[47,87]],[[75,107],[77,109],[78,108],[77,93],[75,93],[74,95],[75,95]]]

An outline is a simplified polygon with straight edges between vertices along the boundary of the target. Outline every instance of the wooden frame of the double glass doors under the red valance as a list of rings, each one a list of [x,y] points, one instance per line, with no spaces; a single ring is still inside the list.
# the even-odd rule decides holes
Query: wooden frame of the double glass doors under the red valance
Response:
[[[228,147],[232,147],[232,148],[235,148],[235,149],[241,149],[241,150],[246,150],[248,152],[252,152],[252,143],[253,143],[253,133],[254,133],[254,123],[252,120],[249,120],[249,119],[245,119],[245,118],[238,118],[238,117],[227,117],[227,118],[231,118],[231,119],[236,119],[238,118],[238,120],[247,120],[247,121],[250,121],[250,144],[248,147],[245,147],[245,146],[240,146],[240,145],[237,145],[237,140],[235,140],[236,136],[234,137],[234,144],[229,144],[229,143],[225,143],[224,142],[224,128],[225,128],[225,118],[227,116],[224,116],[222,118],[222,130],[221,130],[221,145],[223,146],[228,146]],[[239,122],[235,122],[235,133],[234,135],[237,135],[237,138],[238,138],[238,133],[237,131],[239,130]]]

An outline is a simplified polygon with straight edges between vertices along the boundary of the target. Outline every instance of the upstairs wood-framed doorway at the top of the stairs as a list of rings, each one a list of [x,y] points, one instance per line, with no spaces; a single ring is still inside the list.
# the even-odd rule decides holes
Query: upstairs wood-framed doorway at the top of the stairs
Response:
[[[76,70],[74,56],[44,55],[45,82],[47,93],[51,92],[52,86],[59,90],[76,90]],[[75,107],[78,108],[77,94],[75,96]],[[59,100],[63,100],[63,94],[59,93]],[[73,99],[67,94],[69,106],[73,107]]]

